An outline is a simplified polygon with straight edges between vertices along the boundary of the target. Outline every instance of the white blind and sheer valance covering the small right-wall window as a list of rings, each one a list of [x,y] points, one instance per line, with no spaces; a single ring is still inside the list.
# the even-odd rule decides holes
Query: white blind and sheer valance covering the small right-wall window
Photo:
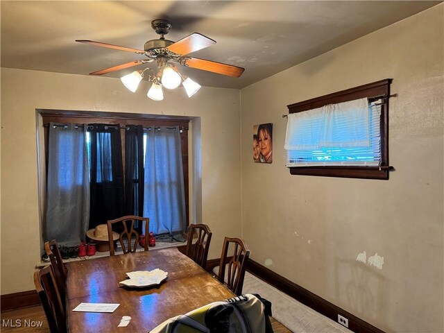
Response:
[[[379,166],[380,102],[357,99],[289,114],[286,166]]]

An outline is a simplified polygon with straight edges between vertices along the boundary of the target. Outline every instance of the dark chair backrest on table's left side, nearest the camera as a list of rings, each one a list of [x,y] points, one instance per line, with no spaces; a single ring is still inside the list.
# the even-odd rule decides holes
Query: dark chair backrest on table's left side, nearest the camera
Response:
[[[35,290],[40,297],[40,302],[42,302],[51,333],[67,332],[65,310],[51,266],[35,271],[34,284]]]

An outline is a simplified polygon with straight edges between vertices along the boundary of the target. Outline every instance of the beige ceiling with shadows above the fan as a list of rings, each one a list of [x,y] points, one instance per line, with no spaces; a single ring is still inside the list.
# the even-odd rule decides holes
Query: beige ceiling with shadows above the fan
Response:
[[[245,68],[241,78],[180,67],[182,74],[242,88],[440,2],[1,1],[1,67],[88,75],[144,57],[74,40],[143,49],[159,37],[151,21],[169,19],[169,40],[195,32],[216,40],[191,56]],[[105,76],[144,66],[153,65]]]

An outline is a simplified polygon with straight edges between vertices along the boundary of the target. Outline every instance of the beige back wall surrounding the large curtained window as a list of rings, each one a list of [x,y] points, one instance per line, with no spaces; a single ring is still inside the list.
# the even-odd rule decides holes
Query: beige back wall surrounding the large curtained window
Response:
[[[141,85],[133,94],[115,78],[1,69],[2,295],[34,289],[41,255],[37,108],[200,117],[191,126],[192,184],[202,192],[194,194],[194,221],[212,228],[210,258],[220,257],[225,234],[241,236],[239,90],[203,87],[188,99],[177,89],[155,102]]]

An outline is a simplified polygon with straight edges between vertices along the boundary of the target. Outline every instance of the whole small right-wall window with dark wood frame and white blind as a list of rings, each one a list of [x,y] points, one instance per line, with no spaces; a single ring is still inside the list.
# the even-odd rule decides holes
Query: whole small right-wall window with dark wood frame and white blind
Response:
[[[388,180],[391,79],[288,105],[292,175]]]

